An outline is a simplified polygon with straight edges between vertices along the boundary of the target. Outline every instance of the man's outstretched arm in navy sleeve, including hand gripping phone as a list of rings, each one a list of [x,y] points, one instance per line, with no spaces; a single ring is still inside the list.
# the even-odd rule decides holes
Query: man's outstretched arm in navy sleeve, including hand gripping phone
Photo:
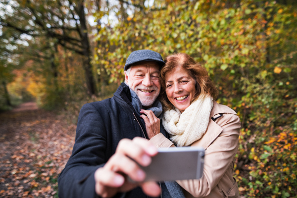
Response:
[[[104,122],[108,124],[109,120],[104,120],[92,104],[82,107],[72,155],[58,178],[59,197],[96,198],[99,195],[107,198],[138,185],[148,196],[158,196],[160,189],[156,183],[130,184],[119,174],[143,181],[145,173],[135,161],[147,166],[150,157],[157,153],[156,148],[143,138],[122,139],[104,164],[107,133]]]

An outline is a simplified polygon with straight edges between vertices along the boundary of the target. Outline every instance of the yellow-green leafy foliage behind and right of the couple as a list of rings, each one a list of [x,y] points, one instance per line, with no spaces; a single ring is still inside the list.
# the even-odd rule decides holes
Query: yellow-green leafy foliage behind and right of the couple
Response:
[[[190,54],[218,87],[217,101],[241,119],[236,158],[238,166],[244,163],[236,174],[241,196],[281,197],[285,186],[292,187],[288,190],[292,194],[297,191],[297,171],[288,170],[297,165],[293,154],[297,153],[297,6],[276,1],[241,0],[232,6],[213,2],[166,1],[163,10],[134,10],[131,24],[119,20],[111,30],[104,29],[104,42],[116,31],[122,38],[113,38],[116,50],[108,49],[111,52],[101,59],[110,61],[107,69],[119,82],[119,68],[130,51],[152,49],[164,58],[175,52]],[[280,135],[283,131],[287,136]]]

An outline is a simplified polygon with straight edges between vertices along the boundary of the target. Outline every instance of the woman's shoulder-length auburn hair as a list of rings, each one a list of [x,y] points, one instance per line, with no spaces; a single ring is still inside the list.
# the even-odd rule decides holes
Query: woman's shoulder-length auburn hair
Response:
[[[191,56],[186,53],[175,53],[165,58],[165,65],[160,72],[162,92],[159,96],[160,101],[163,104],[165,110],[173,109],[174,106],[167,98],[165,92],[165,75],[174,71],[177,67],[183,67],[188,70],[191,77],[195,80],[196,93],[191,103],[199,97],[204,97],[205,94],[209,94],[213,99],[217,98],[218,90],[214,83],[211,81],[207,70],[196,62]]]

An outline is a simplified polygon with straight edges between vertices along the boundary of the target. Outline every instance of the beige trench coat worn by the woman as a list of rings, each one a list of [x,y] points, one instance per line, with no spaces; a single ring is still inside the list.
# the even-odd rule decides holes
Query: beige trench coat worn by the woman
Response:
[[[203,176],[199,180],[178,180],[186,198],[239,198],[233,178],[234,157],[238,149],[240,119],[228,106],[213,101],[210,117],[223,116],[209,124],[202,138],[191,147],[205,148]],[[174,147],[161,133],[150,139],[157,148]]]

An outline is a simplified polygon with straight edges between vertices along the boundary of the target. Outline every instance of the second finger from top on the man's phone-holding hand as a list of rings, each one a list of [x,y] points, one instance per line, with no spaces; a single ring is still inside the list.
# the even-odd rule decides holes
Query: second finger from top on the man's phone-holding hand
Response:
[[[123,154],[115,154],[110,158],[106,168],[114,172],[121,172],[128,175],[132,180],[141,182],[146,178],[146,173],[138,164]]]

